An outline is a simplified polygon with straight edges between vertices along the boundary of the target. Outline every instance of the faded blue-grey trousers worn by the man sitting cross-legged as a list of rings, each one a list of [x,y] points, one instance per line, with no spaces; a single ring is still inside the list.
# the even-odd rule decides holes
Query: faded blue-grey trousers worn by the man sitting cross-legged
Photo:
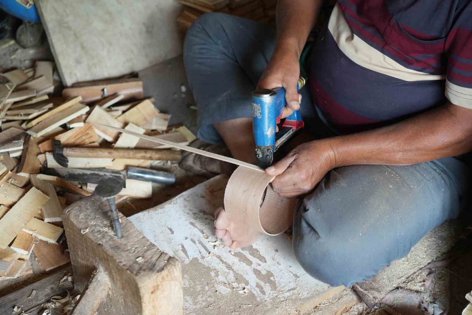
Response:
[[[221,141],[213,123],[252,116],[251,92],[274,47],[273,27],[222,13],[205,14],[188,30],[184,61],[200,139]],[[308,87],[301,93],[307,129],[317,138],[332,135]],[[333,169],[297,206],[295,256],[310,275],[332,286],[369,279],[408,254],[431,229],[458,216],[468,178],[467,165],[454,157]]]

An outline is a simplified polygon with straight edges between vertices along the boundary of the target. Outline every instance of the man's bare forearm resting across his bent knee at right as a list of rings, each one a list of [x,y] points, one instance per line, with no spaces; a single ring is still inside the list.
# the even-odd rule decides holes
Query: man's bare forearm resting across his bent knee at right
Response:
[[[334,167],[412,165],[472,150],[472,110],[451,103],[386,127],[329,138]]]

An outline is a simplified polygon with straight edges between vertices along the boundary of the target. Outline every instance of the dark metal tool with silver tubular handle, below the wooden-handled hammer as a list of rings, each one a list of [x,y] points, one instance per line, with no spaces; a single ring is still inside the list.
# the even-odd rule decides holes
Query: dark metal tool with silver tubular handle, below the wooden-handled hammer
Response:
[[[58,176],[69,182],[98,184],[102,180],[113,179],[126,188],[126,179],[173,185],[176,175],[170,172],[129,166],[126,170],[117,171],[106,168],[46,168],[43,174]]]

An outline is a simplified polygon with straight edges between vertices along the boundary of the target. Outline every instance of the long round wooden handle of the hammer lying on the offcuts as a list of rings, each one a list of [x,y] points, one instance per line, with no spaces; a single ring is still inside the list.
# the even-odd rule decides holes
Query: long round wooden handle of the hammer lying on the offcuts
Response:
[[[64,148],[65,157],[135,158],[139,160],[178,161],[180,151],[168,149]]]

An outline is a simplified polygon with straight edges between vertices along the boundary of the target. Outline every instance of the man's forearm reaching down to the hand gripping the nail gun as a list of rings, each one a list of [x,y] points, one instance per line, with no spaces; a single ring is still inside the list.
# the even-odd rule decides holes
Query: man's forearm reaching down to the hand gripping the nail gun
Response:
[[[277,3],[277,47],[293,47],[300,57],[308,34],[319,17],[323,2],[324,0],[279,0]]]

